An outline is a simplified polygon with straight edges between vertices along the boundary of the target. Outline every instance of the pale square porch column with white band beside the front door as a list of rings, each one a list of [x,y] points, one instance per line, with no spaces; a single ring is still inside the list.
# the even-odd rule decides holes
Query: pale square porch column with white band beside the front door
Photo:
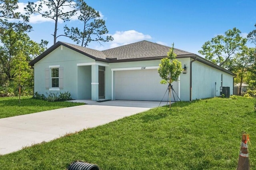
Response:
[[[99,66],[92,65],[92,100],[99,100]]]

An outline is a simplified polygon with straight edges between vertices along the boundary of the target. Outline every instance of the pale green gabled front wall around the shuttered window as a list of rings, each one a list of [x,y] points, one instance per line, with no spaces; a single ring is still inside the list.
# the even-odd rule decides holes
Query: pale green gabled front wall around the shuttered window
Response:
[[[34,64],[34,92],[38,92],[39,94],[46,94],[49,92],[53,92],[53,93],[70,92],[72,98],[78,99],[79,97],[78,90],[84,90],[84,87],[81,88],[80,85],[86,84],[86,82],[87,82],[87,85],[91,83],[91,80],[90,82],[88,82],[90,77],[86,78],[86,75],[91,75],[91,70],[89,67],[78,69],[77,63],[91,63],[91,62],[95,62],[95,60],[91,59],[90,57],[86,57],[67,47],[64,47],[64,46],[57,47],[54,51],[52,51],[46,57],[44,57],[43,59],[38,61],[36,64]],[[45,84],[46,71],[45,70],[51,66],[60,66],[63,68],[63,88],[60,88],[60,89],[46,88],[46,84]],[[78,75],[84,78],[78,81]],[[49,77],[50,77],[50,72],[49,72]],[[88,92],[88,95],[91,95],[91,92]],[[86,96],[80,96],[80,97],[86,97]]]

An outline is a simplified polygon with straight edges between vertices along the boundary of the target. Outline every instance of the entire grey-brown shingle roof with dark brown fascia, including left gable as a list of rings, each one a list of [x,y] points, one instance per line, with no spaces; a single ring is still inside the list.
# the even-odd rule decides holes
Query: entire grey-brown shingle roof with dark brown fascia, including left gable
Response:
[[[86,47],[82,47],[79,45],[74,45],[70,43],[60,42],[58,41],[52,47],[44,51],[41,55],[36,57],[34,60],[32,60],[29,65],[33,66],[35,63],[40,61],[42,58],[44,58],[46,55],[51,53],[54,49],[59,47],[60,45],[64,45],[65,47],[68,47],[74,51],[77,51],[78,53],[81,53],[85,56],[91,57],[95,60],[100,61],[106,61],[111,62],[111,59],[114,59],[115,62],[118,60],[145,60],[147,58],[154,59],[154,58],[161,58],[161,57],[167,57],[167,52],[170,51],[171,47],[167,47],[165,45],[160,45],[157,43],[152,43],[150,41],[139,41],[136,43],[123,45],[120,47],[98,51]],[[176,53],[177,57],[179,55],[191,55],[192,53],[182,51],[180,49],[174,49],[174,53]]]

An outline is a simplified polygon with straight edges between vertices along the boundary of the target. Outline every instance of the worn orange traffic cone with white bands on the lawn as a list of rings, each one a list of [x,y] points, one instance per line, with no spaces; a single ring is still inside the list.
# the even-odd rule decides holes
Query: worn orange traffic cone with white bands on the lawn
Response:
[[[237,170],[250,170],[249,153],[248,153],[249,135],[242,135],[240,154],[238,158]]]

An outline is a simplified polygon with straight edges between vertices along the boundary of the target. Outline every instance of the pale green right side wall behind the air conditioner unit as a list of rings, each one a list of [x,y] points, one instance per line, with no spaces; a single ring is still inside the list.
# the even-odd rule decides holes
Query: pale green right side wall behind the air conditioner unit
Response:
[[[233,76],[199,61],[192,63],[192,100],[220,96],[221,77],[223,85],[233,94]]]

